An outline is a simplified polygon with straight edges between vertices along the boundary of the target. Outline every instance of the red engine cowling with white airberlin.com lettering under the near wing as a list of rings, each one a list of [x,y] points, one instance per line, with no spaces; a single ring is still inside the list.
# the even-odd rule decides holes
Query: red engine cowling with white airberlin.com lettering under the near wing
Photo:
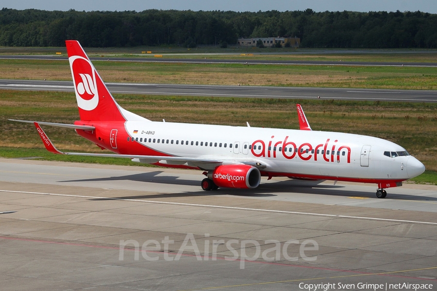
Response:
[[[253,189],[261,181],[259,170],[250,165],[222,165],[208,173],[218,187]]]

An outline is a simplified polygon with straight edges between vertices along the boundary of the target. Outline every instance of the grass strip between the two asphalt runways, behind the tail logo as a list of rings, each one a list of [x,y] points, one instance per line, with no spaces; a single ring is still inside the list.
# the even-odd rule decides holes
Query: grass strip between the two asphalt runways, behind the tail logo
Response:
[[[215,85],[437,89],[436,67],[94,61],[103,80]],[[0,60],[1,79],[71,80],[66,60]]]

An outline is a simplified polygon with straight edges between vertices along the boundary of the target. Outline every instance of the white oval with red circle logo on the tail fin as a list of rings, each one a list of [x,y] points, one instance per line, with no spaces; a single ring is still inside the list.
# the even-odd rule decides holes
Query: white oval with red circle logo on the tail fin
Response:
[[[77,105],[83,110],[91,111],[99,104],[96,71],[89,60],[84,57],[71,56],[69,61]]]

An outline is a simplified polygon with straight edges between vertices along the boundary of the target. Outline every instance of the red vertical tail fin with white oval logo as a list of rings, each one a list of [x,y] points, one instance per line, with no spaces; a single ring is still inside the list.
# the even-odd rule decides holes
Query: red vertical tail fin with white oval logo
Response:
[[[81,120],[126,120],[79,42],[65,43]]]

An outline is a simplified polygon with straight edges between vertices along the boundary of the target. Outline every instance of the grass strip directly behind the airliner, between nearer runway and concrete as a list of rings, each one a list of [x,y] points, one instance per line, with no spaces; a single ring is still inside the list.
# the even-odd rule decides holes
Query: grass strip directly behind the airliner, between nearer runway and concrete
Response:
[[[0,156],[130,163],[123,159],[99,160],[52,155],[43,150],[44,146],[32,124],[7,121],[8,118],[13,118],[72,123],[78,119],[73,93],[2,90],[0,96],[0,130],[7,133],[0,141]],[[248,121],[252,127],[285,129],[299,128],[295,104],[300,102],[314,130],[342,131],[384,138],[405,147],[425,164],[427,170],[437,171],[437,104],[434,103],[144,95],[115,95],[115,98],[123,108],[155,121],[165,118],[168,122],[234,126],[245,126]],[[44,129],[61,150],[101,152],[97,146],[79,137],[71,129]],[[23,148],[26,150],[23,151]],[[27,148],[33,150],[28,151]],[[429,173],[429,177],[436,177],[434,172]],[[425,181],[433,182],[429,177]],[[435,182],[437,183],[437,179]]]

